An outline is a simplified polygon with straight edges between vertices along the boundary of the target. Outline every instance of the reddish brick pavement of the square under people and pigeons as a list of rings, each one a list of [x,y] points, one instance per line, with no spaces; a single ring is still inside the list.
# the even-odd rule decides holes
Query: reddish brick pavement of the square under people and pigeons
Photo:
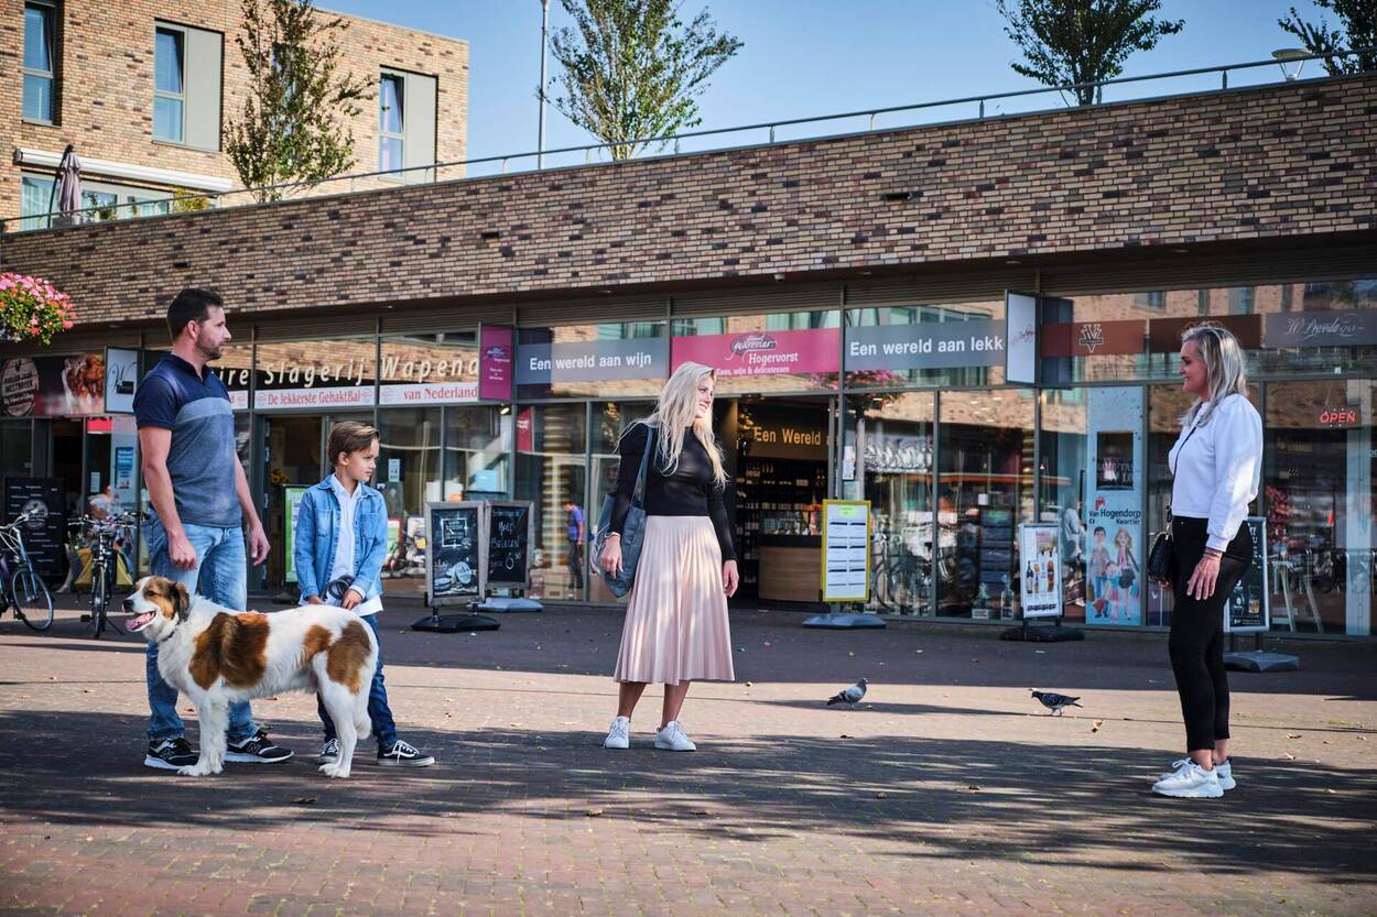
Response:
[[[402,734],[439,764],[343,783],[304,760],[304,695],[255,704],[286,766],[149,771],[140,644],[70,614],[0,622],[0,913],[1377,913],[1377,646],[1294,643],[1304,671],[1235,673],[1239,789],[1179,803],[1147,793],[1181,739],[1159,636],[741,613],[738,682],[684,712],[701,750],[650,746],[653,691],[614,755],[618,614],[476,636],[384,617]],[[861,709],[821,704],[861,675]],[[1029,687],[1085,709],[1042,716]]]

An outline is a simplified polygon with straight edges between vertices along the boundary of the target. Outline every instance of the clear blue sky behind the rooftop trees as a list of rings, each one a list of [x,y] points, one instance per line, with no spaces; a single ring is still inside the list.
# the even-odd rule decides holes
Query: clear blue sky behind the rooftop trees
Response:
[[[470,43],[470,157],[536,149],[540,76],[540,0],[318,0],[322,8],[425,29]],[[691,17],[706,6],[719,28],[745,43],[700,98],[702,128],[832,114],[1031,88],[1009,69],[1016,50],[994,0],[686,0]],[[1270,58],[1296,41],[1276,26],[1287,8],[1318,18],[1311,0],[1165,0],[1159,15],[1186,28],[1154,51],[1129,59],[1124,76]],[[566,25],[551,0],[551,28]],[[1330,18],[1330,21],[1333,21]],[[554,59],[549,63],[554,69]],[[1305,76],[1319,73],[1305,65]],[[1268,67],[1265,78],[1279,76]],[[1237,74],[1231,84],[1264,78]],[[1209,85],[1215,85],[1212,80]],[[1162,83],[1158,95],[1203,88],[1202,81]],[[1052,96],[1023,102],[1049,107]],[[1019,103],[1005,102],[1001,110]],[[991,103],[990,110],[994,110]],[[946,120],[974,114],[950,109]],[[894,123],[891,120],[891,123]],[[884,124],[884,120],[880,121]],[[858,129],[861,121],[804,128],[795,135]],[[781,134],[781,136],[785,136]],[[756,139],[764,139],[757,134]],[[547,149],[589,143],[552,106]],[[717,140],[716,145],[748,142]],[[705,143],[706,146],[706,143]]]

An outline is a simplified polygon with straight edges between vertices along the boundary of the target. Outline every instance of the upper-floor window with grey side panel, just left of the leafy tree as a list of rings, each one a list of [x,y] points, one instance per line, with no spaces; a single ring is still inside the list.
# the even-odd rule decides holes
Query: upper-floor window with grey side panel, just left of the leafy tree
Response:
[[[153,138],[220,149],[218,32],[160,22],[153,44]]]

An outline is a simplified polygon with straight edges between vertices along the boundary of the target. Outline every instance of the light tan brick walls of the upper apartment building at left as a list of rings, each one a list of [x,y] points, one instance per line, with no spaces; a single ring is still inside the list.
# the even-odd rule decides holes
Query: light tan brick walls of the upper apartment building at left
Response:
[[[23,77],[23,3],[0,0],[0,124],[4,162],[0,164],[0,213],[19,213],[21,169],[10,162],[17,147],[61,153],[76,145],[77,156],[117,162],[196,172],[233,179],[234,168],[220,153],[205,153],[153,139],[154,22],[172,22],[219,32],[223,36],[223,125],[240,116],[248,72],[234,34],[240,29],[240,0],[58,0],[58,103],[54,127],[21,118]],[[335,17],[326,11],[321,17]],[[468,110],[468,43],[399,26],[340,17],[348,29],[336,37],[346,67],[369,83],[380,67],[437,77],[437,160],[465,156]],[[377,102],[361,105],[353,123],[355,167],[377,169]],[[88,180],[112,180],[90,175]],[[156,187],[147,183],[136,183]],[[242,200],[242,198],[240,198]]]

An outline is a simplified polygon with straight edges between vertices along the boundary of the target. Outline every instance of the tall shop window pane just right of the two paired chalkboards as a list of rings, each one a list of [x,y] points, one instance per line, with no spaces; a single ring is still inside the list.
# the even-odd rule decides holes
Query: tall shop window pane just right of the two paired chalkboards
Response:
[[[588,505],[585,410],[582,403],[526,405],[516,413],[516,498],[530,500],[536,514],[530,593],[537,599],[584,595],[584,563],[569,533],[570,511]]]

